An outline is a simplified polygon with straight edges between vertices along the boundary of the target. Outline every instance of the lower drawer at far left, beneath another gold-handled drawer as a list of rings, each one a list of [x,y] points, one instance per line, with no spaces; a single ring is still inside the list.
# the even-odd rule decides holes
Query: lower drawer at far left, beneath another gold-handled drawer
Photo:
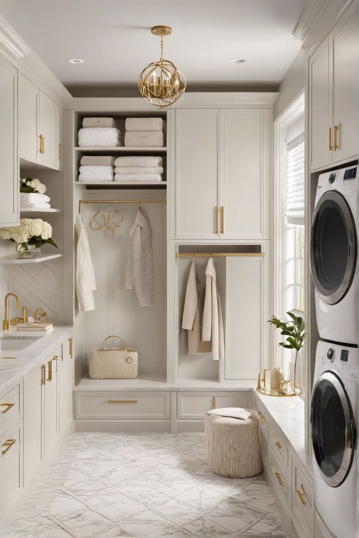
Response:
[[[23,487],[23,419],[0,437],[0,516]]]

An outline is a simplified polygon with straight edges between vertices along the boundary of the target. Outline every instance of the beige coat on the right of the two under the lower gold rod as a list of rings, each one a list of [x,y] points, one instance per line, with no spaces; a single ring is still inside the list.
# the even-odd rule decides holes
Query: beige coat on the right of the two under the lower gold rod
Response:
[[[224,359],[224,330],[221,298],[217,290],[216,268],[213,258],[206,267],[206,296],[203,309],[203,341],[211,341],[212,359]]]

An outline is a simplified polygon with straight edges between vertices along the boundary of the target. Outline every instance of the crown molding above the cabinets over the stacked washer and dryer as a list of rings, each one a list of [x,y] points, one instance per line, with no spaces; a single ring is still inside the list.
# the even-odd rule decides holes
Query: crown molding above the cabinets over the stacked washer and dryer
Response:
[[[358,0],[310,0],[292,32],[308,53],[321,43],[342,13]]]

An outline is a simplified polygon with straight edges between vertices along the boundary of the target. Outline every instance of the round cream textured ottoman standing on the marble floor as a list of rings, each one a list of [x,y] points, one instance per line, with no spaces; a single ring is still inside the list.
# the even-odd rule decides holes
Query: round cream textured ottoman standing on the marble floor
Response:
[[[259,424],[252,409],[246,420],[206,415],[208,466],[216,475],[246,478],[262,472]]]

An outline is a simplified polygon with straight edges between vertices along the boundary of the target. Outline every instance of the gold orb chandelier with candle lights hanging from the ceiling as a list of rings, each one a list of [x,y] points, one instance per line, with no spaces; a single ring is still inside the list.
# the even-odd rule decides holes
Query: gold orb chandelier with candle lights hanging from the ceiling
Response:
[[[149,63],[138,79],[138,89],[143,98],[156,107],[166,108],[178,101],[187,83],[184,75],[170,60],[163,59],[163,37],[172,33],[170,26],[153,26],[151,33],[161,36],[161,58]]]

